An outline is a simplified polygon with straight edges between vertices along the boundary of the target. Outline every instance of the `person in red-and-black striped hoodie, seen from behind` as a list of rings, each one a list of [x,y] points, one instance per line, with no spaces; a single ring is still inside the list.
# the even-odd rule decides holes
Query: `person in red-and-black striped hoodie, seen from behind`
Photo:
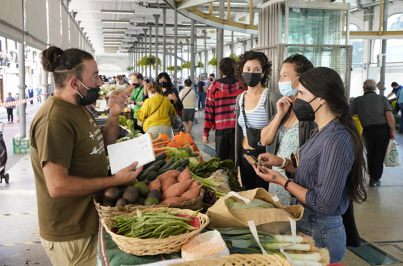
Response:
[[[235,102],[244,92],[242,81],[234,75],[235,60],[225,57],[220,60],[218,69],[222,78],[210,83],[204,110],[204,143],[209,143],[210,130],[216,130],[216,158],[231,159],[235,162]]]

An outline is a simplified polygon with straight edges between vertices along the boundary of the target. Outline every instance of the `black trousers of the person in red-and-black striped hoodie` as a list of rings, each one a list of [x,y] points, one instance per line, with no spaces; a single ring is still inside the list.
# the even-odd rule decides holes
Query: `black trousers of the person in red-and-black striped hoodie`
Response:
[[[216,129],[216,158],[231,159],[235,164],[235,128]]]

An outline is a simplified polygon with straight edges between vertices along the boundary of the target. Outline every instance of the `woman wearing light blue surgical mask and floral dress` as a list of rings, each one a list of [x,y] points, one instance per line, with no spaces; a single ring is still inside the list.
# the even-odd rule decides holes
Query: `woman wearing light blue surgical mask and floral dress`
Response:
[[[290,158],[292,152],[298,149],[309,139],[312,129],[317,127],[314,121],[298,121],[292,109],[298,97],[299,76],[307,70],[314,68],[312,63],[303,55],[296,53],[285,59],[280,70],[278,88],[284,96],[277,102],[277,112],[269,124],[262,129],[260,141],[263,145],[274,144],[273,153],[281,158]],[[272,155],[266,153],[266,157]],[[270,160],[269,160],[270,162]],[[272,169],[287,178],[285,165],[271,164]],[[288,174],[289,176],[289,174]],[[290,205],[290,194],[278,184],[270,184],[268,192],[277,195],[283,206]]]

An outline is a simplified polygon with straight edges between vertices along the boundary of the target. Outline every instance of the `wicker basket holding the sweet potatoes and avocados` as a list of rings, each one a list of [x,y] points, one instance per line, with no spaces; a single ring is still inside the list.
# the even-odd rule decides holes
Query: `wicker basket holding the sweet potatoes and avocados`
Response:
[[[147,208],[158,208],[158,207],[169,207],[169,208],[179,208],[179,209],[190,209],[193,211],[197,211],[202,209],[202,199],[203,199],[203,190],[200,190],[200,194],[197,198],[193,198],[191,201],[185,201],[181,203],[171,203],[165,205],[126,205],[124,207],[110,207],[110,206],[101,206],[97,200],[98,194],[93,195],[93,202],[95,204],[95,208],[97,209],[99,217],[115,217],[116,215],[122,215],[125,213],[131,213],[132,211],[136,211],[137,209],[147,209]]]

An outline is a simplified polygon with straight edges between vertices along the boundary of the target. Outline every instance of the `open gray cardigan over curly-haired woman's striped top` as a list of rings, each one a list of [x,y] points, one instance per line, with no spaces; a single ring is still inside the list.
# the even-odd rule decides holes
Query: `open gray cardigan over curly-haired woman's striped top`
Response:
[[[238,124],[239,117],[239,99],[241,98],[241,94],[237,96],[237,101],[235,102],[235,112],[237,113],[237,119],[235,119],[235,168],[239,166],[239,155],[241,154],[242,149],[242,127]],[[266,121],[267,125],[269,124],[272,116],[277,112],[277,101],[281,98],[281,95],[274,90],[270,90],[267,92],[266,100],[264,102],[264,110],[266,110]],[[273,153],[274,145],[267,145],[266,152]]]

